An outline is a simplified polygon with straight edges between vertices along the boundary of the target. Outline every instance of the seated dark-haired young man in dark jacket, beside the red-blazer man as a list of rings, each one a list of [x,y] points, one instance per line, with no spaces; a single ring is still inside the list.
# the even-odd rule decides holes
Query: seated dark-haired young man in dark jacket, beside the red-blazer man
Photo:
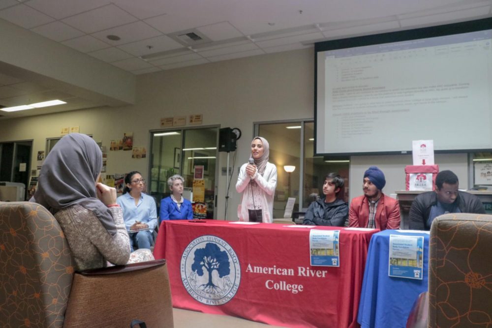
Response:
[[[324,198],[311,203],[304,216],[304,225],[343,227],[348,217],[348,205],[338,199],[344,180],[336,173],[326,176],[323,183]]]

